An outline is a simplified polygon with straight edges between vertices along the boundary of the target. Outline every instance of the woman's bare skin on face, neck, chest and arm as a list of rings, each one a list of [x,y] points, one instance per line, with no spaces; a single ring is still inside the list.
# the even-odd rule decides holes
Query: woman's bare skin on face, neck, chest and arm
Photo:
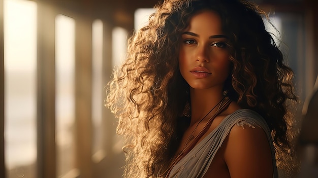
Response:
[[[192,132],[196,135],[203,129],[208,118],[200,123],[199,121],[223,97],[224,82],[230,74],[226,41],[220,17],[208,10],[194,15],[182,34],[179,68],[182,77],[190,86],[192,118],[177,153],[182,151]],[[232,101],[229,107],[213,120],[209,130],[198,143],[227,115],[238,109],[241,109],[240,106]],[[244,125],[231,129],[204,177],[272,177],[272,171],[271,152],[265,132],[262,128]]]

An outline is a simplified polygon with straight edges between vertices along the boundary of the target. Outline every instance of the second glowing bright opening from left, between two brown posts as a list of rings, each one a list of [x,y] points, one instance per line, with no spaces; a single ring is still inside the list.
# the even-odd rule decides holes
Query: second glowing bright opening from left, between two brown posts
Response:
[[[57,174],[74,168],[75,122],[75,20],[55,18]]]

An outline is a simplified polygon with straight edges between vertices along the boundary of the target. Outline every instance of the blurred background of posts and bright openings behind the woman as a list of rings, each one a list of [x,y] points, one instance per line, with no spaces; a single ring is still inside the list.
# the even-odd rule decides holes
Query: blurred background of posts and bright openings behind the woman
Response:
[[[0,0],[0,177],[121,177],[122,140],[104,87],[157,2]],[[318,177],[317,2],[253,2],[270,14],[296,74],[297,177]]]

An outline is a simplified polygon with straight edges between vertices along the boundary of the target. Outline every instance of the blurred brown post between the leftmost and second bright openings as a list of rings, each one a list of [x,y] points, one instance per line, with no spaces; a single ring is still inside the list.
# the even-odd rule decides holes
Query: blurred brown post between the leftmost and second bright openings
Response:
[[[56,178],[55,12],[38,3],[38,177]]]

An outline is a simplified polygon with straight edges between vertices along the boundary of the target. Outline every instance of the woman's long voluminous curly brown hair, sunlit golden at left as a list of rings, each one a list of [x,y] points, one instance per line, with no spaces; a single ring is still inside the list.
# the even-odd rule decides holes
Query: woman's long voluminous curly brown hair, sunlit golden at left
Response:
[[[264,117],[278,168],[284,167],[282,158],[293,156],[290,108],[298,98],[293,71],[266,31],[266,14],[243,0],[166,0],[155,9],[149,24],[130,38],[126,60],[107,87],[106,106],[119,118],[117,133],[125,138],[124,176],[156,177],[176,152],[183,134],[177,125],[189,103],[189,86],[178,67],[180,37],[204,9],[219,14],[229,38],[231,75],[224,90],[241,108]]]

